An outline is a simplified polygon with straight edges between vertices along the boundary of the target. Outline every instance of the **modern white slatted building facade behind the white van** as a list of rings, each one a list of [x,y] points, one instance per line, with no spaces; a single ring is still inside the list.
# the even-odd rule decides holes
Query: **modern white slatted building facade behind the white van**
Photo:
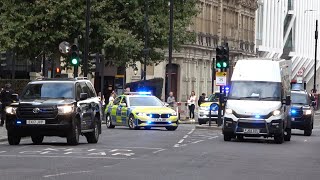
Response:
[[[292,61],[292,80],[307,82],[313,89],[316,19],[319,0],[259,0],[256,14],[256,44],[260,57]],[[319,54],[319,49],[317,49]],[[319,69],[319,62],[317,69]],[[316,75],[317,80],[320,74]],[[316,89],[319,89],[319,81]]]

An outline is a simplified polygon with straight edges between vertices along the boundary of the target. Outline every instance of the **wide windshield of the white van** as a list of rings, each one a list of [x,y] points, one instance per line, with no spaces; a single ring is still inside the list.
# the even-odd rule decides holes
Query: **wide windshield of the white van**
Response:
[[[260,81],[234,81],[229,99],[278,101],[281,99],[281,83]]]

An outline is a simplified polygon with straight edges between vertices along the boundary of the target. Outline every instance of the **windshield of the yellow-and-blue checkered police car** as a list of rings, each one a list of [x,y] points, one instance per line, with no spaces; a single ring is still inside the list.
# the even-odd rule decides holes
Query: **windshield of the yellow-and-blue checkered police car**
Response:
[[[154,96],[129,97],[130,106],[163,106],[163,103]]]

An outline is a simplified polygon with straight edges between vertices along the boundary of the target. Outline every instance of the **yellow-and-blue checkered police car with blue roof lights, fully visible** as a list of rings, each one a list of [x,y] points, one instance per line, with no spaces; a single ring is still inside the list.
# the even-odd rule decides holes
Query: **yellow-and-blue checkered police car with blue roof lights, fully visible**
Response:
[[[148,92],[128,92],[118,96],[105,110],[108,128],[128,126],[130,129],[178,128],[177,113]]]

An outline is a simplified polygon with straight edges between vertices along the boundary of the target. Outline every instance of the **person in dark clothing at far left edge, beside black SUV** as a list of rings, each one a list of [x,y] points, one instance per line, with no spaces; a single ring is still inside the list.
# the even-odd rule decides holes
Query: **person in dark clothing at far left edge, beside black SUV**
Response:
[[[12,94],[14,94],[14,91],[11,89],[11,84],[7,83],[3,90],[0,92],[0,99],[1,99],[1,122],[0,126],[3,126],[5,118],[6,118],[6,106],[9,106],[13,100],[12,100]]]

